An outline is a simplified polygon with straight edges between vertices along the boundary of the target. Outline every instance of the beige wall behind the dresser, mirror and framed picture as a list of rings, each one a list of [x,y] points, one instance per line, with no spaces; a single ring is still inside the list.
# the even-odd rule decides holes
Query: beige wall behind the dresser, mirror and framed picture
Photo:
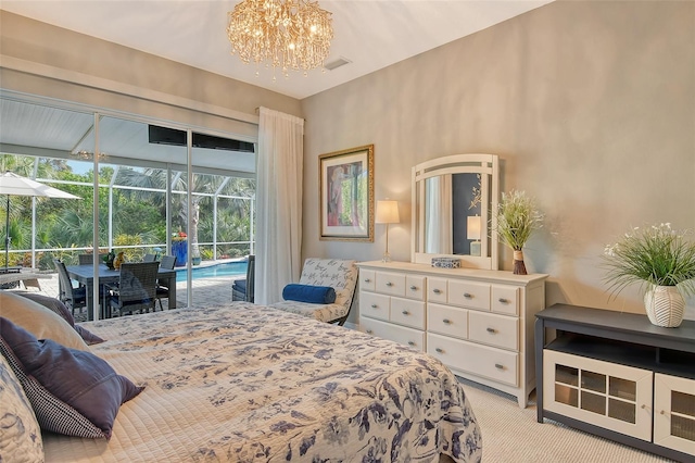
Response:
[[[318,239],[318,155],[375,145],[376,199],[397,199],[395,260],[409,260],[410,167],[466,152],[503,160],[502,189],[546,214],[525,250],[547,303],[609,302],[604,246],[646,223],[695,227],[695,3],[554,2],[302,101],[304,255],[379,259],[374,243]],[[511,270],[503,252],[501,268]],[[695,318],[695,301],[688,301]],[[351,314],[356,322],[356,314]]]

